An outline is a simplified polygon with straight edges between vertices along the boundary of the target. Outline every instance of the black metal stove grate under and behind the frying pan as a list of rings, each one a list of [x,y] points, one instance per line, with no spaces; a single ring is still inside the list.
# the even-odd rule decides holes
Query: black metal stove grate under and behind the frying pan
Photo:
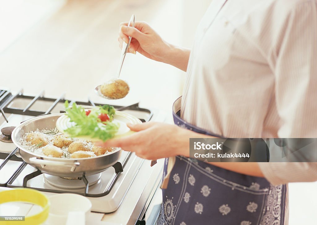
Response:
[[[54,109],[54,107],[58,103],[64,103],[67,99],[64,98],[65,94],[62,94],[59,98],[46,98],[44,97],[44,91],[39,93],[36,96],[31,96],[31,95],[25,95],[23,94],[23,89],[21,89],[18,93],[15,95],[12,95],[10,91],[8,90],[0,90],[0,112],[3,115],[4,119],[8,122],[8,118],[6,117],[5,113],[11,113],[11,114],[20,114],[20,115],[28,115],[28,116],[40,116],[40,115],[47,115],[50,114],[51,111]],[[10,103],[13,102],[13,100],[16,99],[30,99],[30,103],[24,108],[16,108],[16,107],[10,107]],[[31,110],[30,107],[34,105],[34,103],[37,100],[42,100],[42,101],[47,101],[47,102],[52,102],[51,106],[44,112],[44,111],[38,111],[38,110]],[[83,106],[102,106],[104,104],[98,104],[92,102],[90,99],[88,99],[87,102],[82,102],[82,101],[73,101],[73,100],[68,100],[70,104],[73,104],[75,102],[78,105],[83,105]],[[130,106],[114,106],[114,108],[118,111],[123,111],[123,110],[136,110],[136,111],[142,111],[142,112],[147,112],[149,115],[147,116],[146,119],[140,119],[142,122],[147,122],[150,119],[152,119],[153,113],[149,109],[145,108],[140,108],[139,103],[135,103]],[[64,112],[64,111],[61,111]],[[74,193],[74,194],[80,194],[83,196],[87,197],[101,197],[101,196],[106,196],[109,194],[109,192],[112,190],[115,182],[117,181],[118,177],[120,176],[121,172],[123,172],[123,169],[126,165],[126,162],[131,156],[131,152],[128,153],[122,164],[120,162],[117,162],[116,164],[113,165],[113,168],[115,169],[116,175],[113,177],[113,179],[110,181],[110,185],[108,185],[107,190],[105,190],[103,193],[99,194],[90,194],[88,193],[89,190],[89,182],[85,175],[81,177],[82,181],[85,183],[85,191],[83,193],[81,192],[73,192],[73,191],[64,191],[64,190],[53,190],[53,189],[42,189],[42,188],[35,188],[35,187],[28,187],[27,183],[29,180],[31,180],[34,177],[37,177],[42,174],[40,170],[37,170],[35,172],[32,172],[28,175],[26,175],[23,178],[23,185],[22,186],[17,186],[13,185],[12,183],[16,180],[16,178],[21,174],[23,169],[27,166],[27,163],[23,161],[22,158],[17,157],[15,153],[18,151],[18,148],[16,147],[10,154],[8,153],[3,153],[0,152],[0,159],[4,159],[4,161],[0,164],[0,170],[8,163],[8,161],[13,160],[13,161],[18,161],[21,162],[21,164],[18,166],[18,168],[14,171],[12,176],[8,179],[6,183],[0,183],[0,187],[10,187],[10,188],[17,188],[17,187],[23,187],[23,188],[31,188],[39,191],[44,191],[44,192],[54,192],[54,193]]]

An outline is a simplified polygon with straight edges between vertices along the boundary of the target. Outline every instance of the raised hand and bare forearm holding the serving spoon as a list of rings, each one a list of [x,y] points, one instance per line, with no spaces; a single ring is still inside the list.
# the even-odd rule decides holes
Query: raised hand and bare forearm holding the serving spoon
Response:
[[[179,48],[165,42],[146,22],[135,22],[134,27],[128,27],[128,22],[120,24],[119,46],[132,37],[127,52],[140,54],[155,61],[171,64],[186,71],[190,49]]]

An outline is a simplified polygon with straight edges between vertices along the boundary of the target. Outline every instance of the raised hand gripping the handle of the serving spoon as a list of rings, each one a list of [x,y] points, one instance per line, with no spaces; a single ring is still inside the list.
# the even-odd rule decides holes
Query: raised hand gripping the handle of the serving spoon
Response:
[[[131,43],[127,52],[140,54],[147,58],[165,62],[166,53],[169,52],[170,45],[156,33],[146,22],[135,22],[134,27],[128,27],[128,22],[120,23],[119,46],[122,48],[123,42],[128,42],[131,36]]]

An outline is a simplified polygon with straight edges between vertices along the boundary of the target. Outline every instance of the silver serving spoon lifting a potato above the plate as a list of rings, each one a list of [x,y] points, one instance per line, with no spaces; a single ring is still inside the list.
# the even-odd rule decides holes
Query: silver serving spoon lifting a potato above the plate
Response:
[[[132,15],[130,18],[130,21],[128,23],[128,27],[134,27],[134,23],[135,23],[135,15]],[[104,89],[107,91],[107,93],[110,93],[111,97],[109,95],[105,95],[101,92],[101,87],[103,85],[98,85],[97,87],[95,87],[95,93],[97,93],[99,96],[101,96],[105,99],[120,99],[120,98],[125,97],[126,95],[124,95],[124,96],[120,96],[120,94],[116,95],[115,92],[118,92],[120,90],[122,91],[122,90],[127,89],[126,94],[129,92],[129,86],[127,85],[127,83],[125,81],[120,80],[119,77],[120,77],[123,61],[126,57],[126,52],[128,51],[128,48],[129,48],[130,43],[131,43],[131,39],[132,39],[132,37],[129,37],[128,43],[126,43],[126,42],[122,43],[119,69],[118,69],[118,73],[117,73],[116,78],[109,80],[107,83],[103,84],[103,85],[105,85]]]

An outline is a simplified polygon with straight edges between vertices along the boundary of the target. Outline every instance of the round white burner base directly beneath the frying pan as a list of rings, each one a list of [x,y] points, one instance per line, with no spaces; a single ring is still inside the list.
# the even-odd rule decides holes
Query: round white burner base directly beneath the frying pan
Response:
[[[101,173],[87,176],[89,186],[98,183],[100,181]],[[52,176],[44,173],[44,181],[58,188],[65,189],[79,189],[85,188],[86,185],[81,179],[64,179],[61,177]]]

